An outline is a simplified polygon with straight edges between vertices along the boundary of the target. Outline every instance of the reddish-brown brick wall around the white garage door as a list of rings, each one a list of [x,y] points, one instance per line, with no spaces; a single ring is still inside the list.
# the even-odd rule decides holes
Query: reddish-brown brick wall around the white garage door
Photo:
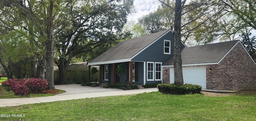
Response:
[[[184,67],[206,67],[206,89],[256,89],[256,65],[241,44],[237,44],[219,64]],[[170,68],[173,67],[163,67],[163,71],[167,70],[163,72],[163,83],[170,83]]]

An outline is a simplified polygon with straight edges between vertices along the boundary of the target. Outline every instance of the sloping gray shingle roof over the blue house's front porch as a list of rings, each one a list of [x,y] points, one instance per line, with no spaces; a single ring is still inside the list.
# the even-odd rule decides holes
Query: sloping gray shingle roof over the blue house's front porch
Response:
[[[144,49],[146,46],[154,42],[154,40],[158,39],[168,31],[169,30],[164,30],[161,32],[156,32],[146,36],[120,42],[89,63],[132,58],[132,56],[140,52],[140,50]]]

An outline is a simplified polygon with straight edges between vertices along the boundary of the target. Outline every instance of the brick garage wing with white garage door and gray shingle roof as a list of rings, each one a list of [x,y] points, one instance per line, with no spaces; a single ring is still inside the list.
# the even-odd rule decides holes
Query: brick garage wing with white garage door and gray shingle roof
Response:
[[[183,48],[184,83],[204,89],[256,89],[256,63],[239,40]],[[163,83],[174,83],[173,58],[163,64]]]

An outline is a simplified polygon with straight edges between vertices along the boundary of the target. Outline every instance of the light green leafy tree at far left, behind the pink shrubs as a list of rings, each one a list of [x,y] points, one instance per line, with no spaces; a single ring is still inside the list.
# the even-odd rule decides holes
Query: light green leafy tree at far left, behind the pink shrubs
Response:
[[[20,11],[15,6],[9,6],[2,2],[0,2],[0,6],[0,12],[2,13],[0,14],[0,45],[2,44],[2,52],[0,55],[2,56],[2,65],[6,67],[5,71],[7,72],[8,78],[12,78],[11,71],[13,71],[13,74],[19,78],[22,78],[25,75],[44,78],[45,67],[40,69],[40,65],[45,64],[40,62],[42,62],[41,60],[45,60],[45,40],[40,38],[40,34],[27,16],[24,16],[25,13],[23,11]],[[20,62],[25,62],[26,60],[30,61],[30,69],[26,70],[30,70],[31,72],[26,72],[26,74],[23,74],[22,76],[21,73],[16,75],[14,71],[17,72],[22,69],[12,69],[24,66],[25,63]],[[27,61],[26,64],[28,64]],[[16,67],[12,67],[14,65]],[[39,70],[41,70],[41,72],[39,72]]]

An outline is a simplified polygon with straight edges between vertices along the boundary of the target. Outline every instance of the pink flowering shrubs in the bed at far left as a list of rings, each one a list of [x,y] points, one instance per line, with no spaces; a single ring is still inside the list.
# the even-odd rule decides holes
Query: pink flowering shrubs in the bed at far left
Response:
[[[28,95],[30,93],[43,93],[48,87],[46,79],[8,79],[2,82],[3,86],[10,87],[15,95]]]

